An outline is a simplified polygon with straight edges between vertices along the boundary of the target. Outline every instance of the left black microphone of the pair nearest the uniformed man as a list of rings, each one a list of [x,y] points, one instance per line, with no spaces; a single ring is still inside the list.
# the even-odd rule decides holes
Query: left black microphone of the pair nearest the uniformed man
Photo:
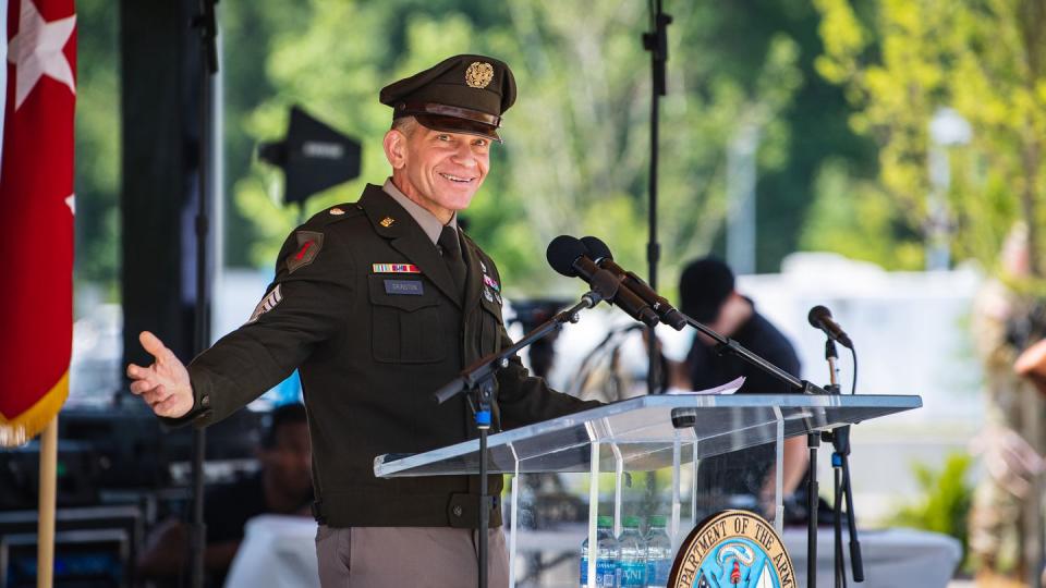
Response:
[[[649,327],[657,324],[657,314],[650,306],[625,287],[619,278],[589,259],[588,249],[576,237],[559,235],[554,238],[545,250],[545,258],[557,272],[593,284],[608,303],[617,305],[635,320]],[[611,282],[615,285],[611,286]]]

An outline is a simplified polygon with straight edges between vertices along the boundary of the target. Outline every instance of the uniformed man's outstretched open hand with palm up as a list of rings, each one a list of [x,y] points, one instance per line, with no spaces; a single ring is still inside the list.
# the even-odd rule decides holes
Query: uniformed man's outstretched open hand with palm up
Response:
[[[127,366],[127,377],[133,380],[131,392],[142,396],[156,416],[180,418],[187,415],[196,401],[185,365],[155,334],[142,331],[138,341],[154,357],[154,363],[147,368],[134,364]]]

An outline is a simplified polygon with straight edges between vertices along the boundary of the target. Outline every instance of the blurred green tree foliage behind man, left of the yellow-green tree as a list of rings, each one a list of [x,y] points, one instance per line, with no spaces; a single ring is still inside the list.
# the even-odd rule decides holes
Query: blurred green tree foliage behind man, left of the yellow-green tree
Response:
[[[119,53],[115,5],[82,0],[77,108],[77,277],[119,279]],[[230,0],[218,4],[223,82],[224,262],[269,268],[303,216],[355,200],[388,167],[385,84],[455,52],[512,64],[520,100],[506,144],[467,217],[513,292],[564,287],[543,262],[556,234],[595,234],[645,268],[649,7],[636,0]],[[668,90],[661,100],[659,241],[662,289],[677,266],[721,246],[726,146],[745,126],[757,152],[757,266],[793,250],[815,171],[828,154],[863,173],[841,90],[813,75],[817,12],[800,0],[666,2]],[[577,23],[584,23],[579,26]],[[293,103],[364,144],[361,179],[281,204],[279,172],[256,145],[279,139]]]

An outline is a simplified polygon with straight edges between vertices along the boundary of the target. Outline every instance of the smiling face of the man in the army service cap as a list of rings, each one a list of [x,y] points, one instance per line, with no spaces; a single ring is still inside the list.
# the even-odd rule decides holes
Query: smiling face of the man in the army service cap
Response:
[[[408,198],[450,221],[464,210],[490,167],[490,139],[427,128],[405,121],[385,134],[392,183]]]

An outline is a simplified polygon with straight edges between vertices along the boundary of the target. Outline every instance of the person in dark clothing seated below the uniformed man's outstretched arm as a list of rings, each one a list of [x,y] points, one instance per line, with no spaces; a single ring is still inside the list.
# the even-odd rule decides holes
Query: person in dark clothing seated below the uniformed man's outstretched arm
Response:
[[[258,449],[260,469],[233,483],[208,489],[204,499],[209,586],[221,586],[243,540],[244,525],[260,514],[312,516],[312,451],[305,406],[284,404],[272,411]],[[138,573],[177,581],[188,561],[188,527],[169,519],[156,527],[138,556]]]

